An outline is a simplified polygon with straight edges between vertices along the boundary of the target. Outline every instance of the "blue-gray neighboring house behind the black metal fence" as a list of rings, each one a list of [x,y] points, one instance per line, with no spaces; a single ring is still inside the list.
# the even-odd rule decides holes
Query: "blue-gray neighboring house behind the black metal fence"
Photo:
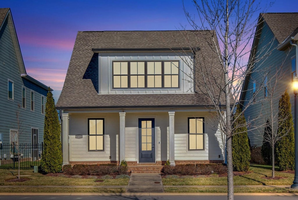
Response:
[[[17,110],[20,111],[21,122],[19,143],[38,144],[44,140],[47,92],[46,85],[27,75],[10,9],[1,8],[0,140],[2,144],[17,144]],[[1,155],[2,158],[3,156]]]

